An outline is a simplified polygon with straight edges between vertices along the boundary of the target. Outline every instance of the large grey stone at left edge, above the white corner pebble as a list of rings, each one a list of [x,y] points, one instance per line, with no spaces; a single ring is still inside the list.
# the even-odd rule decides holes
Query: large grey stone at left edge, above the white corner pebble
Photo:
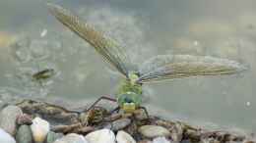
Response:
[[[0,127],[11,135],[17,130],[16,119],[23,115],[23,111],[17,106],[8,106],[0,113]]]

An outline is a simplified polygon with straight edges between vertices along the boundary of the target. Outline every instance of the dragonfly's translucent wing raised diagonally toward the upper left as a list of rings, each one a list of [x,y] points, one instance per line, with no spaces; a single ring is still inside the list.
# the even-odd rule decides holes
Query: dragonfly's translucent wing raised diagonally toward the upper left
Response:
[[[112,64],[118,71],[128,77],[128,71],[132,71],[134,67],[121,47],[113,40],[104,36],[102,32],[96,31],[92,25],[83,23],[79,17],[73,15],[70,11],[54,4],[47,5],[50,13],[59,22],[89,42],[102,55],[105,61]]]

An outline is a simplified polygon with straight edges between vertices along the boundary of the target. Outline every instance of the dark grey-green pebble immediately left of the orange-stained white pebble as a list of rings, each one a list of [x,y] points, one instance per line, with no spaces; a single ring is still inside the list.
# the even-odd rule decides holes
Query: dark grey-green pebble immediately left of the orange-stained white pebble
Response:
[[[29,125],[22,125],[16,133],[18,143],[32,143],[32,130]]]

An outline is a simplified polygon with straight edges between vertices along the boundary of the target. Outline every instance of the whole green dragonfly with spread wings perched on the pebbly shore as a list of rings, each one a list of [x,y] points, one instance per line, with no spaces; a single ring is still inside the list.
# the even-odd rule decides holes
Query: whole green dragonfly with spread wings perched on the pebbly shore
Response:
[[[152,81],[183,78],[190,76],[227,75],[246,70],[238,62],[211,56],[158,55],[150,58],[141,66],[131,62],[124,47],[106,36],[95,26],[80,19],[71,11],[56,4],[47,4],[49,12],[61,23],[87,41],[106,63],[123,75],[123,82],[116,92],[116,98],[101,96],[88,109],[91,110],[101,100],[117,102],[117,110],[133,113],[145,110],[142,105],[142,86]]]

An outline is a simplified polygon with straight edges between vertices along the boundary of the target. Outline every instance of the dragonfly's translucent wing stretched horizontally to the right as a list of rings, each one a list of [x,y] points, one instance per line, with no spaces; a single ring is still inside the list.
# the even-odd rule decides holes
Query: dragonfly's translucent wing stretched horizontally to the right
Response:
[[[237,62],[210,56],[160,55],[142,65],[138,82],[195,75],[233,74],[244,70],[246,67]]]

